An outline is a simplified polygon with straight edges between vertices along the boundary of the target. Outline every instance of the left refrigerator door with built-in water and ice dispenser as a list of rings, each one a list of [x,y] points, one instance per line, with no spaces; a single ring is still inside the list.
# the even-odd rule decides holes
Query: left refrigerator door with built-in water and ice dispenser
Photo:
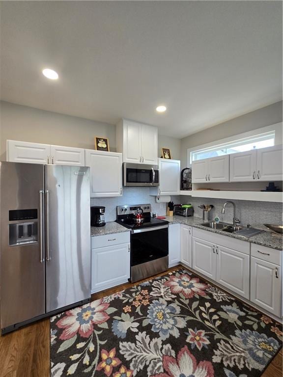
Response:
[[[44,250],[40,247],[43,189],[43,165],[0,162],[2,329],[45,313]]]

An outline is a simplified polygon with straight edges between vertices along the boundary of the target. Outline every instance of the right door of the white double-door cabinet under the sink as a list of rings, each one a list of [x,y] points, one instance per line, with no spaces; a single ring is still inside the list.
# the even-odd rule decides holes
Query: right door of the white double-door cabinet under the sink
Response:
[[[250,299],[250,255],[216,245],[216,281]]]

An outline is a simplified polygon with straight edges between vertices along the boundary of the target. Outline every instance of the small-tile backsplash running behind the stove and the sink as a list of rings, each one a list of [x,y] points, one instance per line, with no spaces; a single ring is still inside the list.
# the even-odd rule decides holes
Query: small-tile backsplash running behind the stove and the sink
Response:
[[[166,203],[156,203],[155,196],[149,194],[148,187],[132,188],[124,187],[123,196],[115,198],[91,198],[91,206],[105,206],[105,220],[114,221],[116,219],[116,206],[126,204],[146,204],[150,203],[152,212],[158,215],[166,214]],[[211,198],[193,198],[190,196],[171,196],[174,204],[188,204],[194,206],[195,216],[202,217],[202,210],[198,208],[200,204],[212,204],[214,208],[209,213],[209,218],[213,219],[215,215],[219,215],[221,221],[231,223],[233,221],[233,206],[227,206],[224,215],[221,214],[223,204],[226,199]],[[257,202],[250,200],[233,200],[236,204],[236,215],[241,220],[242,225],[250,224],[280,224],[283,221],[282,203]]]

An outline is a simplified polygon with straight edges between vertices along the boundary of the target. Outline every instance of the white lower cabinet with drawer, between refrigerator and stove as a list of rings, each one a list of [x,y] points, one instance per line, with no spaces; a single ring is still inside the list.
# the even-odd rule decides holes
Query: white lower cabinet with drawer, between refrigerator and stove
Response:
[[[118,243],[119,240],[128,242]],[[93,237],[91,243],[92,247],[95,244],[103,246],[91,249],[91,293],[128,282],[130,232]]]

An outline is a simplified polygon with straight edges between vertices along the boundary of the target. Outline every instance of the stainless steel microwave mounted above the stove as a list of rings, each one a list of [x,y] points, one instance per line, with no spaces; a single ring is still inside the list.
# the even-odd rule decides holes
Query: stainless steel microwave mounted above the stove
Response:
[[[123,186],[159,186],[159,166],[123,163]]]

